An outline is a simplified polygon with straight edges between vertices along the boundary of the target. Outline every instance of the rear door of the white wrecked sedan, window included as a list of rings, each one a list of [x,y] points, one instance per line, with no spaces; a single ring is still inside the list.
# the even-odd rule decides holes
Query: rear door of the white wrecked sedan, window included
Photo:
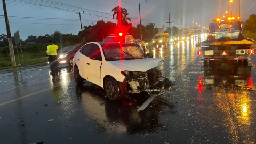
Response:
[[[78,66],[79,73],[81,77],[83,77],[84,79],[88,78],[87,77],[87,69],[88,69],[87,61],[90,59],[92,45],[93,44],[86,44],[83,47],[81,57],[77,59],[79,61],[79,66]]]

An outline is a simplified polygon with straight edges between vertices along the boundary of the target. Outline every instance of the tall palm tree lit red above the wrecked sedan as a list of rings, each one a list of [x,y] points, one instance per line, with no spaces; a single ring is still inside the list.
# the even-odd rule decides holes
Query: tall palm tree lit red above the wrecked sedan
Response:
[[[121,25],[126,25],[128,22],[127,20],[131,21],[131,19],[129,17],[127,17],[127,15],[129,15],[129,13],[127,13],[127,9],[120,7],[119,5],[117,7],[115,7],[114,9],[112,9],[113,13],[113,19],[116,16],[116,21],[118,23],[118,25],[120,24],[120,19],[121,19]],[[121,18],[119,18],[121,16]]]

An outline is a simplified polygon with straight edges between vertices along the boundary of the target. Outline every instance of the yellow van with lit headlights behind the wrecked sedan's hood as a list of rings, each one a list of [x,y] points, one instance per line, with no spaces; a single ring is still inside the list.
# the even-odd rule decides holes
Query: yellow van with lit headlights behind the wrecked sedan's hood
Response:
[[[170,43],[170,35],[169,33],[158,33],[152,39],[154,47],[164,47],[164,45],[169,45]]]

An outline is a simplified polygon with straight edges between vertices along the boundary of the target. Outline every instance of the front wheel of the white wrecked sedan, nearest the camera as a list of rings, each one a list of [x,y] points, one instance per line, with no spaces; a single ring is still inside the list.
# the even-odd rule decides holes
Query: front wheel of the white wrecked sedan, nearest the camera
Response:
[[[107,94],[107,97],[111,101],[117,101],[120,98],[120,87],[117,81],[114,78],[108,78],[105,86],[104,86],[105,92]]]

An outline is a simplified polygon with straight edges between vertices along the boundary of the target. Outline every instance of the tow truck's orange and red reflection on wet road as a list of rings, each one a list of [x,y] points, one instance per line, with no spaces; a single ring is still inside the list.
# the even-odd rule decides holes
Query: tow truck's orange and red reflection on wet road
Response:
[[[197,98],[199,101],[213,101],[214,108],[204,107],[211,114],[207,119],[216,127],[226,127],[223,132],[228,133],[231,143],[251,143],[254,139],[253,85],[251,66],[202,68]],[[207,96],[209,92],[213,93],[213,98]]]

